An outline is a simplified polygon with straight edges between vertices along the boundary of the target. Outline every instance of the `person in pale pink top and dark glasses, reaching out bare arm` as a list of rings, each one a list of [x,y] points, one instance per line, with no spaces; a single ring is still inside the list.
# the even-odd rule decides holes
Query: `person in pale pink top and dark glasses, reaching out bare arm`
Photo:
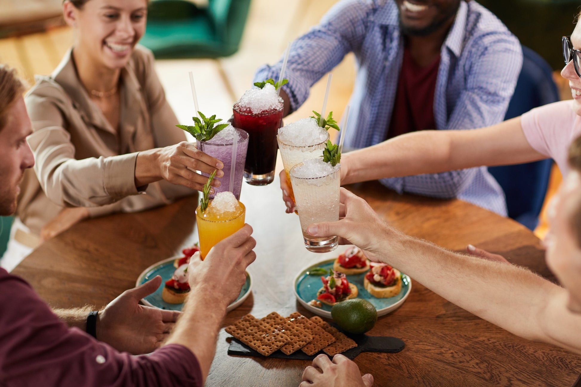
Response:
[[[581,134],[581,27],[564,38],[567,62],[561,75],[569,80],[573,101],[537,107],[521,117],[475,130],[411,132],[346,153],[341,184],[479,166],[521,164],[551,157],[566,176],[569,144]],[[571,60],[573,58],[573,60]],[[501,66],[501,64],[499,64]],[[283,195],[287,212],[292,200]]]

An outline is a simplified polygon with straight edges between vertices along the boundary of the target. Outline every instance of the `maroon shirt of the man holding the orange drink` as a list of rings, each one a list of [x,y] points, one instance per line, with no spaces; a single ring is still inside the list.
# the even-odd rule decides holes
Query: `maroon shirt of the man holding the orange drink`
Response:
[[[202,372],[181,345],[132,356],[68,328],[27,282],[0,268],[0,385],[202,386]]]

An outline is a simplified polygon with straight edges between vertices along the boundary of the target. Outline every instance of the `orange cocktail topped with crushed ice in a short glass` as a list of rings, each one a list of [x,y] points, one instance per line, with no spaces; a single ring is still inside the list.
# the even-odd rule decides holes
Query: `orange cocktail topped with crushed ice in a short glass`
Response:
[[[196,221],[202,259],[216,243],[244,227],[245,214],[245,206],[229,191],[217,193],[204,211],[202,205],[198,206]]]

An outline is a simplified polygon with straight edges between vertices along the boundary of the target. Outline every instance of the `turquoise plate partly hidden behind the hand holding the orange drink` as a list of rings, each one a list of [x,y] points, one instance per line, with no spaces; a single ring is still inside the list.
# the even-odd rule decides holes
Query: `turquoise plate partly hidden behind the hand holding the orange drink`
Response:
[[[139,286],[144,282],[149,281],[156,275],[161,275],[163,282],[159,288],[151,293],[146,298],[142,299],[145,305],[153,306],[160,309],[169,309],[169,310],[181,310],[184,304],[168,304],[162,299],[162,290],[165,282],[174,275],[175,267],[174,267],[174,260],[177,258],[181,258],[182,256],[177,256],[173,258],[164,259],[163,261],[159,261],[154,263],[152,266],[146,268],[143,273],[139,274],[137,277],[137,282],[135,282],[135,286]],[[228,305],[227,311],[231,311],[236,309],[240,304],[244,302],[244,300],[250,295],[250,290],[252,289],[252,277],[248,271],[246,272],[246,283],[242,286],[242,290],[238,295],[236,301]]]

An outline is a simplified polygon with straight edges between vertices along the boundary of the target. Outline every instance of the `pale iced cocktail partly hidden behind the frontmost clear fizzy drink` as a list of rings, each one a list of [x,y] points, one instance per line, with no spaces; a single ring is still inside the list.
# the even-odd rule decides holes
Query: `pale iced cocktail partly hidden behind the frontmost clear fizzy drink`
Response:
[[[332,117],[332,113],[329,114],[329,117]],[[324,125],[321,127],[320,124]],[[332,120],[332,124],[333,127],[336,127],[334,120]],[[295,202],[295,196],[292,184],[290,184],[290,169],[304,159],[322,157],[323,149],[325,149],[325,144],[329,139],[327,125],[328,120],[321,121],[318,117],[309,117],[290,123],[278,130],[278,149],[281,151],[282,164],[290,189],[289,196],[293,202]]]

